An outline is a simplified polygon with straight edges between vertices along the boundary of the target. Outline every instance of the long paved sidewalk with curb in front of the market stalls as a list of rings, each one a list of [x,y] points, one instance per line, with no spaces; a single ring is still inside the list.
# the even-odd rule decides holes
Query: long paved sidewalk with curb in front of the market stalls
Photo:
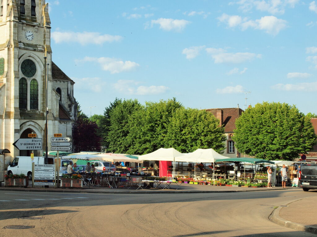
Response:
[[[282,187],[273,188],[248,188],[248,187],[229,187],[229,186],[214,186],[214,185],[192,185],[182,184],[178,189],[176,184],[171,184],[171,189],[126,189],[126,188],[107,188],[107,187],[86,187],[82,189],[69,189],[69,188],[15,188],[15,187],[0,187],[0,190],[7,191],[29,191],[29,192],[79,192],[79,193],[213,193],[213,192],[249,192],[249,191],[274,191],[274,190],[287,190],[298,189],[294,187]]]

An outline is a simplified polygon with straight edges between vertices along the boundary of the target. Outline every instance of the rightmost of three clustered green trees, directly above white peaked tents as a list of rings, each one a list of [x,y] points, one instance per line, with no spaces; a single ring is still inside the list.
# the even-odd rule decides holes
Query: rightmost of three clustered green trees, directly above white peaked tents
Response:
[[[226,137],[219,120],[205,110],[179,108],[168,125],[167,144],[182,153],[212,148],[223,153]]]

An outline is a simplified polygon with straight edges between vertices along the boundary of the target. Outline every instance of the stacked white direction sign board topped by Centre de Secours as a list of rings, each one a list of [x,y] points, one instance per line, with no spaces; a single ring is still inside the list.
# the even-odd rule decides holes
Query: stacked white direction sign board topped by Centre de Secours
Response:
[[[34,185],[55,185],[55,165],[34,165]]]

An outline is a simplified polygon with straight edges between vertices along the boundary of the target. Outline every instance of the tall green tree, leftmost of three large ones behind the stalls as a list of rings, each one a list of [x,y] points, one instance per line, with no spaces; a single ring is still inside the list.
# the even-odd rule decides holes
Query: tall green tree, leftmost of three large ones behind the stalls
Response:
[[[131,124],[129,123],[130,116],[135,111],[142,109],[143,106],[138,100],[123,100],[110,112],[110,126],[106,134],[105,141],[109,144],[108,150],[113,153],[125,153],[132,142],[128,139],[130,133]]]

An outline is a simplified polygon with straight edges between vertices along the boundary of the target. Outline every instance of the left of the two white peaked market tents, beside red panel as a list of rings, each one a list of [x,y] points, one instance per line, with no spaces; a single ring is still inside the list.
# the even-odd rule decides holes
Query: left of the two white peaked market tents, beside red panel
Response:
[[[148,161],[173,161],[173,176],[175,174],[175,161],[179,161],[179,158],[184,156],[174,148],[160,148],[146,155],[140,155],[139,159]]]

